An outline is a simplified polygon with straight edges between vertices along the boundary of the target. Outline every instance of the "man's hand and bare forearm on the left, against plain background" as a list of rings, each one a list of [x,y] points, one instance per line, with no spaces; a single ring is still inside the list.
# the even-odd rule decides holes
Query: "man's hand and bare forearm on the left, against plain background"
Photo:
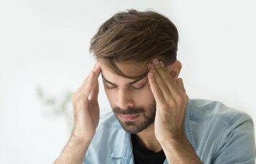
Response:
[[[72,104],[74,107],[74,129],[67,142],[67,145],[59,155],[55,164],[81,164],[91,139],[99,123],[99,82],[98,77],[101,72],[99,63],[94,65],[94,69],[85,79],[78,90],[72,94]]]

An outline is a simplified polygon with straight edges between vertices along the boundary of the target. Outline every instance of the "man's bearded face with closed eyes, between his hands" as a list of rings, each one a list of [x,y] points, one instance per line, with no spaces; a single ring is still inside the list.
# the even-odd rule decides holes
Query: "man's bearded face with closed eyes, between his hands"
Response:
[[[100,65],[105,93],[122,128],[129,133],[138,133],[151,125],[156,114],[156,101],[151,93],[148,76],[127,79]],[[129,76],[139,76],[148,71],[146,63],[116,65]]]

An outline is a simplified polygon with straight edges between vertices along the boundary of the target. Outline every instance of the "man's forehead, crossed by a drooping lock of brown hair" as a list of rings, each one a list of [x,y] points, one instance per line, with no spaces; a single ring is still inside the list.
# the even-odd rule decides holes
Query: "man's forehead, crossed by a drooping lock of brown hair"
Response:
[[[102,68],[102,75],[110,80],[111,82],[116,82],[116,80],[121,81],[131,81],[132,79],[127,79],[126,77],[121,77],[120,75],[114,73],[110,70],[108,66],[105,66],[104,63],[99,63]],[[116,63],[116,66],[120,71],[130,77],[140,77],[143,74],[148,72],[148,63],[140,62],[140,63]],[[134,79],[133,79],[134,80]]]

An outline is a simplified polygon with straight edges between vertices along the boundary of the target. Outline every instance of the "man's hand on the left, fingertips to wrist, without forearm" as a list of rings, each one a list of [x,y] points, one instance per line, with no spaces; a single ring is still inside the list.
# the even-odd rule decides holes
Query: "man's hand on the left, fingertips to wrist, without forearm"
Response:
[[[72,136],[82,141],[91,141],[99,123],[98,77],[100,72],[99,63],[96,63],[83,84],[72,94],[74,107]]]

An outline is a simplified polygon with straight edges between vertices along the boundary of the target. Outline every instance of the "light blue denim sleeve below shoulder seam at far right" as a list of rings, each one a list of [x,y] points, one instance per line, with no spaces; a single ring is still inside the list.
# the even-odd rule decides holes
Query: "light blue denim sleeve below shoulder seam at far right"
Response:
[[[217,144],[213,164],[255,164],[255,132],[252,118],[238,114]]]

